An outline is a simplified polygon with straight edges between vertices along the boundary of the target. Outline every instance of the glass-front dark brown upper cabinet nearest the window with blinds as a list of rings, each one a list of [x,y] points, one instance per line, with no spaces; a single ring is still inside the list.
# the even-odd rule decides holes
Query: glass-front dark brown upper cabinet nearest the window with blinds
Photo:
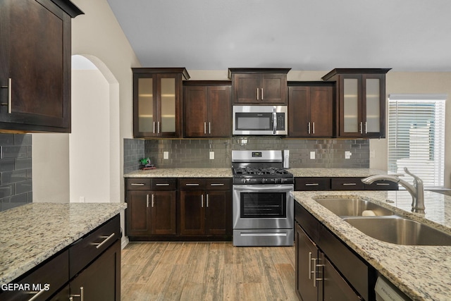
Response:
[[[339,68],[323,76],[336,82],[337,137],[385,137],[385,74],[389,68]]]

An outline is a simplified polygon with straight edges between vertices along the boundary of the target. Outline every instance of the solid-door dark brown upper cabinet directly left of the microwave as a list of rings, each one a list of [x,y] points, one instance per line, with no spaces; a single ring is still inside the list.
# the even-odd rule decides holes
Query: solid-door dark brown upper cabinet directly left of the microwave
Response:
[[[183,123],[185,137],[230,137],[230,82],[185,82]]]

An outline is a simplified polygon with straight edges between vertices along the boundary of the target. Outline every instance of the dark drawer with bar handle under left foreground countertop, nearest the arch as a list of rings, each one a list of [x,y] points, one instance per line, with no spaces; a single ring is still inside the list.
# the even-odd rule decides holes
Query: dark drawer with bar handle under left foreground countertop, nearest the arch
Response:
[[[69,276],[72,278],[89,262],[92,262],[116,240],[121,239],[121,223],[119,214],[92,231],[91,234],[80,238],[69,247]]]

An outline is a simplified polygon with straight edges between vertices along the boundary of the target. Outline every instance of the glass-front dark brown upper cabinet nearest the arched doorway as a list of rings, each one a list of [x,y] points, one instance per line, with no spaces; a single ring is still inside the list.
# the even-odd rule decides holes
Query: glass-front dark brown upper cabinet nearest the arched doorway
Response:
[[[132,68],[133,137],[181,137],[185,68]]]

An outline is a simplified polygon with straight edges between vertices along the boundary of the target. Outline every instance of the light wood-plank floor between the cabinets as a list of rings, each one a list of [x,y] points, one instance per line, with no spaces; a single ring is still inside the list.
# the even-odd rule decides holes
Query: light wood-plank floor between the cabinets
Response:
[[[295,247],[130,242],[121,300],[297,300]]]

